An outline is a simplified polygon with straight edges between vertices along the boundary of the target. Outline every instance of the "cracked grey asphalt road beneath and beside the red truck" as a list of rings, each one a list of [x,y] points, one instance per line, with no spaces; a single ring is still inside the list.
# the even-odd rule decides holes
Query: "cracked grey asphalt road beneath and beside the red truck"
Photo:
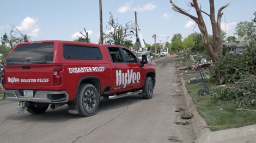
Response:
[[[193,142],[190,120],[180,118],[186,104],[174,57],[155,63],[152,99],[101,99],[98,112],[88,118],[69,114],[67,106],[32,115],[17,113],[17,102],[0,103],[0,142]]]

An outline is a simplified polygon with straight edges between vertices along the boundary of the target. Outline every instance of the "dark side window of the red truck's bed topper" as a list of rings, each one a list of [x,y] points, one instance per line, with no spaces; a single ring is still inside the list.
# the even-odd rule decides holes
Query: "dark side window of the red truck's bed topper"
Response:
[[[64,44],[63,56],[65,59],[102,60],[100,49],[88,46]]]

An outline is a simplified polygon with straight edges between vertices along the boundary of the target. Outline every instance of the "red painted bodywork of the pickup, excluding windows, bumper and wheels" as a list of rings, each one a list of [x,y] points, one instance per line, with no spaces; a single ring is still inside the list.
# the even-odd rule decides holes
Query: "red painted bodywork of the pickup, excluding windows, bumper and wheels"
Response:
[[[102,96],[106,87],[110,87],[108,95],[141,89],[144,86],[146,74],[148,72],[155,73],[154,64],[151,62],[144,64],[144,67],[141,67],[139,62],[112,62],[108,47],[129,50],[122,46],[71,41],[39,41],[18,44],[16,47],[35,43],[53,43],[52,62],[39,64],[8,64],[8,62],[5,61],[5,89],[65,90],[69,94],[68,101],[72,101],[77,95],[81,81],[88,77],[99,79],[100,95]],[[99,48],[102,59],[65,59],[63,56],[64,44]],[[29,59],[30,57],[28,56],[27,58]],[[60,71],[54,73],[54,68],[56,67],[60,68]],[[59,85],[54,85],[54,74],[60,77]]]

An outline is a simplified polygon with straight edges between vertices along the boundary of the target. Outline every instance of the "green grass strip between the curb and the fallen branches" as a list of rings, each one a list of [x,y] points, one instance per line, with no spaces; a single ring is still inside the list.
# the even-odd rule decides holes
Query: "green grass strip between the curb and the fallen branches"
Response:
[[[193,77],[200,77],[198,73],[184,75],[184,80],[187,81]],[[216,86],[209,85],[210,92]],[[232,101],[221,101],[220,99],[212,99],[210,95],[198,96],[199,89],[203,89],[203,83],[193,83],[186,88],[190,90],[193,102],[196,104],[198,112],[203,116],[211,131],[221,129],[237,128],[247,125],[256,124],[256,112],[252,111],[237,111],[239,108]]]

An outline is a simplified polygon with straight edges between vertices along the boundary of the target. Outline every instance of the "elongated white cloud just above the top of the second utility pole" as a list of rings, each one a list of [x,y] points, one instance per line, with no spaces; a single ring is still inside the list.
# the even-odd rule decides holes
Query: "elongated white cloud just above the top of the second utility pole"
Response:
[[[148,4],[145,4],[145,5],[137,5],[137,6],[131,7],[132,3],[133,3],[133,1],[125,3],[125,5],[120,6],[117,9],[117,12],[124,13],[128,10],[130,10],[130,11],[140,11],[141,12],[141,11],[153,10],[153,9],[156,8],[156,5],[154,5],[153,3],[148,3]]]

